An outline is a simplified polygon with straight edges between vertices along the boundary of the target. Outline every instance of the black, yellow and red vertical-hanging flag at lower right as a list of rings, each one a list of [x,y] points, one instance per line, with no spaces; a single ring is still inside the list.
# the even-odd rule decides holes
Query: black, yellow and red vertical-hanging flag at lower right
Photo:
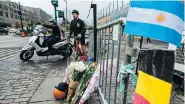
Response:
[[[174,51],[140,51],[133,104],[170,104],[174,61]]]

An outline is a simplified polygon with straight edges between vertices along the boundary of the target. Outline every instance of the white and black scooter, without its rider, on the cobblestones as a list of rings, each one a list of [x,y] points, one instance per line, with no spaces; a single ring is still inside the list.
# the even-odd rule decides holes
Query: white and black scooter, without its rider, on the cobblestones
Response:
[[[49,56],[51,55],[48,47],[46,45],[46,31],[44,29],[38,30],[35,32],[34,36],[32,36],[28,43],[22,48],[20,53],[20,59],[27,61],[31,59],[34,55],[34,51],[38,56]],[[68,39],[61,39],[56,44],[53,45],[54,54],[52,55],[62,55],[65,58],[70,57],[73,53],[72,44],[68,41]]]

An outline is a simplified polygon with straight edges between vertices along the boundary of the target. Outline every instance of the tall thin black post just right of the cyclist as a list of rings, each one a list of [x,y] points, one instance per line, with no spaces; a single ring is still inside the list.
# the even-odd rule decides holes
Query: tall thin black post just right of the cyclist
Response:
[[[97,52],[97,6],[96,4],[91,4],[91,8],[93,8],[93,19],[94,19],[94,61],[96,60],[96,52]]]

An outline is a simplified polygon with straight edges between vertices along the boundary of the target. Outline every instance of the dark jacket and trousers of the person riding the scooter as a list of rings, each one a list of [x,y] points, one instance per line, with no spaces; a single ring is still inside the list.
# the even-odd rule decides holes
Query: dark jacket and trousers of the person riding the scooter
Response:
[[[55,44],[57,41],[61,40],[60,29],[57,26],[57,24],[55,25],[43,24],[43,26],[52,29],[52,35],[50,36],[49,40],[47,40],[48,50],[52,52],[52,45]]]

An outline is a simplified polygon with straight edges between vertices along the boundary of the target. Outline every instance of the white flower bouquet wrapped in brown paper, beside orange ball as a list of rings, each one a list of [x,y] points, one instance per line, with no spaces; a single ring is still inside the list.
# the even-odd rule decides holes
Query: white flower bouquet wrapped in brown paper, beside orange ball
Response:
[[[86,69],[87,65],[85,65],[82,61],[72,62],[66,69],[64,82],[67,82],[69,84],[67,101],[71,100]]]

